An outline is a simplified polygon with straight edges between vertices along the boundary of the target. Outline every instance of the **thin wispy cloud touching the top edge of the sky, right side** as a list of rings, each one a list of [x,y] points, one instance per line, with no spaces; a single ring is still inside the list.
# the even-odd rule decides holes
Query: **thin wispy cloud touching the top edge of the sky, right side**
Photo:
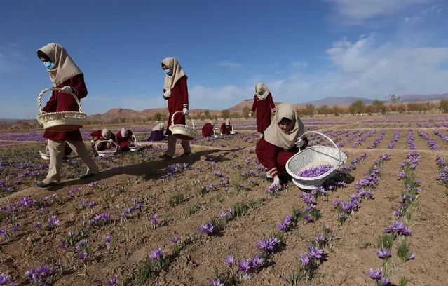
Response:
[[[372,25],[382,16],[397,15],[412,6],[430,4],[434,0],[325,0],[333,4],[340,25]],[[431,6],[430,9],[434,9]]]

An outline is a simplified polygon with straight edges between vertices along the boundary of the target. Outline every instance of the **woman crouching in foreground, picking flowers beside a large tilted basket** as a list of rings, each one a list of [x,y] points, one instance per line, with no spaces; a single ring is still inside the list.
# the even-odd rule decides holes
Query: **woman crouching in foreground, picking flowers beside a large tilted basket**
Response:
[[[279,173],[287,174],[286,162],[299,149],[303,150],[308,146],[306,137],[299,138],[304,132],[304,123],[297,116],[292,104],[278,104],[271,125],[266,128],[264,136],[259,139],[255,148],[258,161],[268,169],[266,175],[273,178],[273,186],[280,183]]]

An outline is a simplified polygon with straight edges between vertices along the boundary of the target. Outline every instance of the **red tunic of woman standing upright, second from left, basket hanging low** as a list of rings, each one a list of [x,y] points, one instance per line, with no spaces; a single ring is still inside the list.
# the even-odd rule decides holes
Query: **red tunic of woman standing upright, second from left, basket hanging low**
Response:
[[[165,88],[163,93],[165,93]],[[165,97],[163,97],[165,98]],[[168,100],[168,112],[170,117],[168,118],[168,125],[166,127],[166,134],[171,135],[171,130],[168,129],[171,126],[172,114],[176,111],[182,111],[184,108],[188,108],[188,87],[186,86],[186,76],[175,83],[175,86],[171,88],[171,96],[165,98]],[[175,124],[185,124],[185,116],[182,114],[176,114],[174,119]]]

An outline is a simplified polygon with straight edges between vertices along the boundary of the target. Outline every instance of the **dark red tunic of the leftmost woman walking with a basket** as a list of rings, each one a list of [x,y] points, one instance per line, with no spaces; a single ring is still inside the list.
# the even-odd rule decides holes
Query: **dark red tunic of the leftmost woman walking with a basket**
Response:
[[[73,76],[67,81],[61,83],[57,88],[62,88],[63,86],[72,86],[72,88],[78,90],[78,98],[86,97],[87,88],[86,83],[84,83],[84,75],[78,74]],[[67,95],[67,93],[61,93],[59,91],[53,90],[51,93],[50,100],[48,100],[45,107],[42,109],[46,112],[56,112],[56,111],[78,111],[78,104],[72,95]],[[50,140],[74,140],[83,141],[81,137],[81,132],[79,130],[73,130],[69,132],[55,132],[55,131],[45,131],[43,133],[43,138]]]

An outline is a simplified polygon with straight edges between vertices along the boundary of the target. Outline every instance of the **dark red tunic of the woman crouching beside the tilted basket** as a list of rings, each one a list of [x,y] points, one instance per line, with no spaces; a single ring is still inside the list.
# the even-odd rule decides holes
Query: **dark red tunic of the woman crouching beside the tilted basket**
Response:
[[[304,138],[304,146],[300,149],[303,150],[307,146],[308,139]],[[287,173],[285,168],[286,162],[298,151],[299,148],[296,146],[285,151],[285,149],[267,142],[264,139],[264,136],[259,139],[257,147],[255,147],[258,161],[268,169],[268,172],[272,177],[277,177],[278,172]]]

